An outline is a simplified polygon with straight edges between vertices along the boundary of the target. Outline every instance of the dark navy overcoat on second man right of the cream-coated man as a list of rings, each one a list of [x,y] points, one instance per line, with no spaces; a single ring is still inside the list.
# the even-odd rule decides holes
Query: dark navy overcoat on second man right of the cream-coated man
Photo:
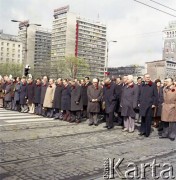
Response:
[[[71,110],[71,88],[69,85],[63,87],[62,90],[61,110]]]

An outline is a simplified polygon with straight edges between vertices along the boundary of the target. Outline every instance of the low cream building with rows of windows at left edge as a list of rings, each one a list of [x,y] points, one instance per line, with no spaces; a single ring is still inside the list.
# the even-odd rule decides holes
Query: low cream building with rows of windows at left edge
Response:
[[[0,63],[22,63],[22,43],[18,36],[0,32]]]

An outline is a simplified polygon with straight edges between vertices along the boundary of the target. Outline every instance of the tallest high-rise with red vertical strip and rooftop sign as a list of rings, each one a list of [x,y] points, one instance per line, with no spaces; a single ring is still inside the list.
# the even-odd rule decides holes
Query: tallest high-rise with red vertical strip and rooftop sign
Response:
[[[84,59],[92,77],[104,77],[106,26],[86,20],[70,12],[69,6],[54,10],[51,61],[62,61],[67,56]],[[55,66],[55,65],[54,65]],[[56,74],[53,71],[52,76]],[[78,70],[78,76],[86,72]]]

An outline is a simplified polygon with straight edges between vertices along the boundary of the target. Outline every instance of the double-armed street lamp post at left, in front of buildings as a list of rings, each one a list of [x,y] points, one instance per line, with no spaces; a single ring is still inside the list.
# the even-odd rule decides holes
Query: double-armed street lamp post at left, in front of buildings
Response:
[[[28,51],[28,48],[27,48],[27,39],[28,39],[28,27],[30,26],[30,25],[35,25],[35,26],[41,26],[41,24],[29,24],[29,21],[19,21],[19,20],[11,20],[12,22],[18,22],[18,23],[20,23],[19,24],[19,29],[22,29],[22,27],[25,27],[26,29],[26,32],[25,32],[25,53],[24,53],[24,62],[23,62],[23,66],[25,67],[26,66],[26,64],[28,63],[28,61],[27,61],[27,51]],[[21,26],[22,27],[21,27]],[[23,67],[23,71],[24,71],[24,67]],[[24,74],[24,72],[23,72],[23,74]]]

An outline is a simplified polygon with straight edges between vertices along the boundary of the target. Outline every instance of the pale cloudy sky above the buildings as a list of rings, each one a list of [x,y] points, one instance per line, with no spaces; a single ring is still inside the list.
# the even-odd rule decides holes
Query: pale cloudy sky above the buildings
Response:
[[[176,16],[176,11],[155,4],[151,0],[138,0]],[[176,0],[156,0],[176,9]],[[70,5],[70,11],[86,19],[100,21],[107,26],[109,67],[162,59],[163,33],[176,17],[156,11],[134,0],[0,0],[0,29],[4,33],[18,34],[18,24],[11,19],[29,20],[51,29],[53,10]]]

